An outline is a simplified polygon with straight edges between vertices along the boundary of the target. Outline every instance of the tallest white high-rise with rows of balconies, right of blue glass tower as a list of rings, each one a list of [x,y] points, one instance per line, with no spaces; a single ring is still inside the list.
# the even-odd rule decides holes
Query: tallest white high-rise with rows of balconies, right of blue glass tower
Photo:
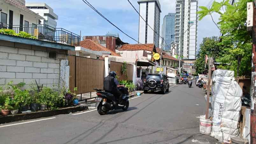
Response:
[[[175,42],[183,59],[196,59],[198,0],[176,0]]]

